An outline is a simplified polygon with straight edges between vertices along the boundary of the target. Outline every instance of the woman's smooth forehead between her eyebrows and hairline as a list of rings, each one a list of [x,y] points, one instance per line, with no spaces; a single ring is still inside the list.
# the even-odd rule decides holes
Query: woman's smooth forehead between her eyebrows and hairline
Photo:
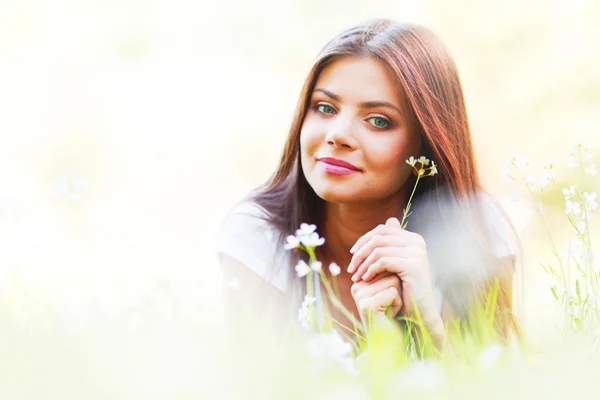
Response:
[[[315,88],[327,89],[344,101],[387,101],[402,105],[402,95],[392,73],[371,57],[343,57],[327,65]]]

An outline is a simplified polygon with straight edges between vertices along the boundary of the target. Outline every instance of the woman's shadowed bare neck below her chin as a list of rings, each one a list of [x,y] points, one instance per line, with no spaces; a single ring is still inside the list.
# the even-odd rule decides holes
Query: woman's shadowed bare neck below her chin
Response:
[[[322,253],[329,261],[335,261],[342,270],[350,263],[350,249],[365,233],[391,217],[402,218],[408,196],[404,190],[384,200],[364,203],[325,202],[321,235],[325,237]]]

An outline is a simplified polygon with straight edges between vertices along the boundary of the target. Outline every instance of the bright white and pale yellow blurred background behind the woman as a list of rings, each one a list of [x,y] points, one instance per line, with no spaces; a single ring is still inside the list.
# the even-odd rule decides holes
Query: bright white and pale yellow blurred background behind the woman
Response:
[[[556,160],[558,190],[539,198],[568,239],[568,148],[580,140],[595,160],[600,149],[591,0],[0,0],[6,320],[81,338],[98,321],[160,315],[211,335],[226,313],[214,254],[224,216],[274,171],[320,48],[373,17],[424,24],[454,55],[484,184],[523,241],[521,309],[544,333],[555,310],[539,263],[552,254],[502,171],[515,155],[536,173]]]

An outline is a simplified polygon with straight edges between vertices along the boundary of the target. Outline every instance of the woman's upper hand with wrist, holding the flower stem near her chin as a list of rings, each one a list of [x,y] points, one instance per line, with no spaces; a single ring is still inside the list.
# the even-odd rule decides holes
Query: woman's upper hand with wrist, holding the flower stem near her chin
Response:
[[[354,255],[348,272],[354,274],[354,282],[370,282],[386,271],[397,274],[402,282],[403,315],[412,315],[418,307],[424,321],[441,320],[423,237],[402,229],[397,218],[390,218],[359,238],[350,252]]]

